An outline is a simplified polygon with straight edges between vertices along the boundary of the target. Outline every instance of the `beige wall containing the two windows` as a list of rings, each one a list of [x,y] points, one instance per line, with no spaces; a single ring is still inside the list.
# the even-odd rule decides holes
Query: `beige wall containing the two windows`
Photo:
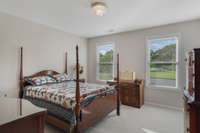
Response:
[[[187,50],[200,47],[200,21],[190,21],[145,30],[131,31],[91,38],[88,40],[88,80],[96,81],[96,44],[114,42],[116,51],[120,53],[120,70],[132,70],[137,78],[145,79],[146,71],[146,39],[148,37],[178,35],[179,44],[179,90],[145,88],[145,102],[182,107],[181,89],[185,84],[184,55]]]

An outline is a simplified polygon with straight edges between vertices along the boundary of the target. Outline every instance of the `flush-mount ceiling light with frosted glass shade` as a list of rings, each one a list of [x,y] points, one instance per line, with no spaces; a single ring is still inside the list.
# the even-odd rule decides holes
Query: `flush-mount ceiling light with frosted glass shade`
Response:
[[[104,16],[107,11],[107,6],[104,2],[93,2],[91,7],[97,16]]]

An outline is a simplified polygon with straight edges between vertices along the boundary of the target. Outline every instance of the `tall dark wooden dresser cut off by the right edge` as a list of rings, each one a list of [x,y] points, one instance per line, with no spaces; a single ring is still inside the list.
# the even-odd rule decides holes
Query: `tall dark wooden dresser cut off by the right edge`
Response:
[[[200,48],[188,53],[186,64],[185,132],[200,133]]]

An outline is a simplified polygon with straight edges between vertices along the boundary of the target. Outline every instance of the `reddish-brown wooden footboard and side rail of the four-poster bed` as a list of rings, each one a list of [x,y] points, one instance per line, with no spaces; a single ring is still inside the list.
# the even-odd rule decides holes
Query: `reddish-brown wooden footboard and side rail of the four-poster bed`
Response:
[[[86,107],[82,108],[82,120],[79,121],[79,133],[84,132],[96,123],[100,122],[109,113],[116,110],[117,94],[108,94],[105,96],[96,97]],[[55,116],[47,114],[46,122],[55,127],[66,131],[67,133],[76,133],[75,127],[62,121]]]

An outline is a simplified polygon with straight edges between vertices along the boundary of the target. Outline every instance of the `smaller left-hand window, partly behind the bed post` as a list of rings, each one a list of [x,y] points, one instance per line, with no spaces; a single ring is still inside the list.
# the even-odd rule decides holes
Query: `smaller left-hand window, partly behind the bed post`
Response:
[[[114,45],[97,46],[97,80],[113,80],[114,77]]]

